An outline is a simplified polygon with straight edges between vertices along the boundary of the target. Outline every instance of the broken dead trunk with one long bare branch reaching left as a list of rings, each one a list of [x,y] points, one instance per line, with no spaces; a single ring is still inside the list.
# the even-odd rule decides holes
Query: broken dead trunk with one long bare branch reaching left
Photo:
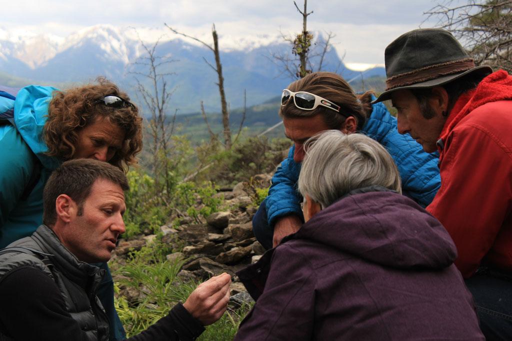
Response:
[[[190,36],[188,34],[185,34],[185,33],[182,33],[182,32],[179,32],[175,29],[173,29],[172,27],[168,26],[167,24],[164,24],[170,31],[172,31],[173,33],[175,34],[178,34],[178,35],[181,35],[183,37],[186,37],[186,38],[189,38],[189,39],[193,39],[197,42],[200,42],[203,46],[205,46],[206,48],[208,48],[211,52],[214,53],[214,57],[215,57],[215,64],[216,66],[212,65],[211,63],[209,63],[205,58],[204,61],[211,67],[211,69],[213,69],[216,73],[217,73],[217,76],[219,78],[219,82],[217,83],[217,86],[219,87],[219,94],[220,94],[220,97],[221,97],[221,110],[222,110],[222,126],[224,128],[224,146],[226,149],[231,149],[231,130],[229,128],[229,110],[228,110],[228,107],[227,107],[227,101],[226,101],[226,94],[225,94],[225,91],[224,91],[224,77],[222,75],[222,63],[221,63],[221,58],[220,58],[220,51],[219,51],[219,37],[217,35],[217,31],[215,30],[215,24],[213,25],[212,27],[212,30],[211,30],[211,35],[214,39],[214,46],[212,47],[210,44],[207,44],[205,43],[204,41],[196,38],[196,37],[193,37],[193,36]]]

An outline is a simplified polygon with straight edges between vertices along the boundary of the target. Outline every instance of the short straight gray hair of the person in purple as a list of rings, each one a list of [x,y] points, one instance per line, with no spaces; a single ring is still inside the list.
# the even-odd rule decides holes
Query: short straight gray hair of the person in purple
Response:
[[[305,149],[298,190],[322,208],[362,187],[382,186],[402,192],[391,155],[363,134],[326,130],[309,139]]]

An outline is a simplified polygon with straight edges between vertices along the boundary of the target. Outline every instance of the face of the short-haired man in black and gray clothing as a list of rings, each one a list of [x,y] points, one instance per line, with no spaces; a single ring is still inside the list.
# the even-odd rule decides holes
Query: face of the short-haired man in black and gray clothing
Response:
[[[108,261],[117,238],[125,231],[122,215],[126,206],[121,187],[109,180],[97,179],[82,210],[74,201],[71,206],[70,222],[59,234],[62,244],[82,262]]]

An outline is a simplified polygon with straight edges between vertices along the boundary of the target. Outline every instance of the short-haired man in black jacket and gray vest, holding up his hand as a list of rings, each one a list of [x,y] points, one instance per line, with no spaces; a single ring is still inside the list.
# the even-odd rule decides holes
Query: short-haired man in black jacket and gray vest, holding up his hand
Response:
[[[124,232],[126,177],[95,160],[63,163],[44,192],[44,224],[0,251],[0,339],[108,340],[96,289]],[[202,283],[185,303],[131,340],[188,340],[220,319],[230,276]]]

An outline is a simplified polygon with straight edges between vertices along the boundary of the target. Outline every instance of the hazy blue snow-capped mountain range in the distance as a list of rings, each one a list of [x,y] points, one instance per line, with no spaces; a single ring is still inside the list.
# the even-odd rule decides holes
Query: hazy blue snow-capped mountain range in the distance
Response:
[[[219,33],[226,96],[231,108],[243,106],[244,89],[247,105],[250,106],[279,95],[292,81],[271,57],[272,53],[290,54],[287,43],[271,37],[267,40],[260,37],[251,44],[251,38],[247,37],[239,49],[236,46],[223,49],[222,32]],[[168,36],[173,39],[161,40],[156,55],[176,60],[161,69],[162,73],[173,73],[167,77],[168,86],[174,89],[169,113],[175,109],[179,109],[179,113],[197,112],[201,101],[204,101],[207,111],[218,111],[217,74],[204,61],[214,63],[211,51],[178,39],[170,32]],[[322,39],[321,36],[318,38]],[[13,36],[0,29],[0,82],[8,86],[33,82],[62,86],[105,76],[118,83],[134,102],[141,104],[135,90],[134,74],[145,72],[143,65],[135,64],[143,52],[140,41],[133,34],[111,25],[90,27],[66,38],[52,35]],[[312,60],[313,69],[317,62]],[[327,52],[323,65],[323,70],[337,72],[347,80],[360,75],[344,66],[335,49]],[[12,79],[6,75],[12,76]],[[384,75],[382,67],[364,73],[364,77]],[[139,79],[144,85],[150,86],[146,80]],[[23,84],[24,80],[27,80],[26,84]]]

